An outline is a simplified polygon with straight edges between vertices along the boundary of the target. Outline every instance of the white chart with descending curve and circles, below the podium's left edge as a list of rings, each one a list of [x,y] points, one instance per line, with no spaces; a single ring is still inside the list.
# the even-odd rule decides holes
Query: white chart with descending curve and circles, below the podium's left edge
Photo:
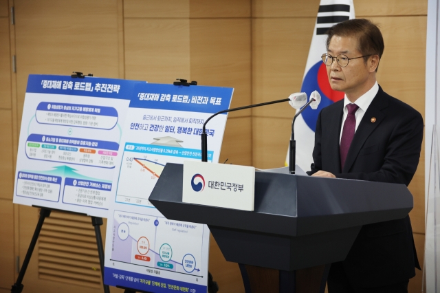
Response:
[[[113,227],[112,261],[203,277],[203,225],[115,210]]]

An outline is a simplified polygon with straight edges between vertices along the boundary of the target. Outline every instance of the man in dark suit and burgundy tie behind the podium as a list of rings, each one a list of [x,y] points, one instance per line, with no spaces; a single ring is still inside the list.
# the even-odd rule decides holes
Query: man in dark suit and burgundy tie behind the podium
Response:
[[[351,19],[334,25],[327,36],[322,61],[331,88],[345,97],[318,116],[309,175],[408,186],[419,163],[423,119],[377,84],[384,51],[379,28],[366,19]],[[365,225],[347,258],[332,263],[329,293],[408,292],[415,267],[408,216]]]

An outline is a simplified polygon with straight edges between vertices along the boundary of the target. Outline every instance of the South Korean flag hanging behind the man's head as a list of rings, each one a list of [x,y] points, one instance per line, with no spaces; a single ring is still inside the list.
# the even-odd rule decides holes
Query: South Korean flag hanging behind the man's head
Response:
[[[322,108],[333,104],[344,98],[342,91],[333,91],[327,78],[325,64],[321,61],[321,55],[327,52],[325,42],[327,30],[336,23],[355,18],[353,0],[321,0],[316,17],[314,36],[311,39],[309,57],[305,65],[303,85],[301,91],[307,96],[317,90],[321,95],[321,102],[318,109],[307,107],[295,122],[296,138],[296,164],[304,171],[310,170],[313,162],[311,153],[314,150],[315,129],[318,113]],[[288,166],[289,151],[285,165]]]

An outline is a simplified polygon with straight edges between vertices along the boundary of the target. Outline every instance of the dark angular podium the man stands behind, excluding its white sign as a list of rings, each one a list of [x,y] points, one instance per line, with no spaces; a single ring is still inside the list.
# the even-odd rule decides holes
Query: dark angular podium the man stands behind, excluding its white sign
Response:
[[[209,163],[207,163],[209,164]],[[246,293],[324,292],[365,224],[406,217],[404,184],[256,171],[254,211],[186,204],[183,165],[166,164],[150,202],[168,219],[207,224]]]

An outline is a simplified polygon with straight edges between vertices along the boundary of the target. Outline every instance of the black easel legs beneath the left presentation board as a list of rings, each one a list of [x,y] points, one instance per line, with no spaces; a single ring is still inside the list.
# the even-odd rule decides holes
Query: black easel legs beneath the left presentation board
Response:
[[[34,207],[41,208],[39,222],[38,222],[38,224],[36,224],[34,236],[32,236],[32,240],[30,241],[28,252],[26,252],[25,260],[23,261],[23,265],[21,265],[21,270],[20,270],[19,276],[17,278],[17,282],[15,282],[14,285],[12,285],[11,293],[21,293],[23,291],[24,285],[21,282],[23,281],[26,270],[28,269],[30,258],[32,257],[32,252],[34,252],[36,241],[39,239],[39,235],[41,232],[41,228],[43,227],[44,220],[46,217],[49,217],[52,210],[54,210],[54,209],[43,208],[43,207],[39,207],[39,206],[34,206]],[[65,212],[65,213],[71,213],[71,212],[67,212],[65,210],[58,210],[58,211]],[[78,213],[75,213],[75,214],[78,214]],[[80,215],[83,215],[83,214],[80,214]],[[102,225],[102,218],[91,217],[91,224],[95,228],[96,245],[98,246],[99,263],[100,263],[100,267],[101,267],[102,285],[104,287],[104,293],[110,293],[109,285],[104,285],[104,246],[102,246],[102,237],[101,237],[101,229],[100,229],[100,226]]]

